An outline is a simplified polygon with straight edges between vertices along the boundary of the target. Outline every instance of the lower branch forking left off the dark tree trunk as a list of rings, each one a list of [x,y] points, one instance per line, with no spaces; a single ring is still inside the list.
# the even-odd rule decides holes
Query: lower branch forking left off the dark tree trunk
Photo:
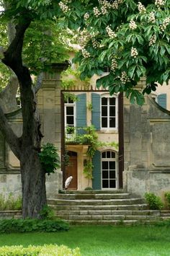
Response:
[[[9,144],[10,148],[14,152],[15,156],[17,158],[20,158],[20,144],[19,144],[19,138],[12,130],[11,126],[8,123],[8,120],[6,119],[4,112],[0,105],[0,130],[6,139],[6,142]]]

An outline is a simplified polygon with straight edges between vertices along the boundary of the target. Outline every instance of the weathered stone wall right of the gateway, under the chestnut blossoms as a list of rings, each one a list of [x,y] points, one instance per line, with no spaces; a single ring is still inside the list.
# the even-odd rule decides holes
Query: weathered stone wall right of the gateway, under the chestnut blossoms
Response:
[[[144,81],[143,81],[144,83]],[[170,112],[146,97],[143,107],[124,100],[124,188],[143,196],[170,191]]]

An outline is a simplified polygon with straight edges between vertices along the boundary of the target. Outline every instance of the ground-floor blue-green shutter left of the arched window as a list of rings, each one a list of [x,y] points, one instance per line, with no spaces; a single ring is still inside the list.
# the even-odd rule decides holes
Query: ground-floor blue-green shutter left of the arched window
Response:
[[[101,190],[101,153],[96,151],[92,159],[94,169],[93,169],[93,180],[92,187],[94,190]]]

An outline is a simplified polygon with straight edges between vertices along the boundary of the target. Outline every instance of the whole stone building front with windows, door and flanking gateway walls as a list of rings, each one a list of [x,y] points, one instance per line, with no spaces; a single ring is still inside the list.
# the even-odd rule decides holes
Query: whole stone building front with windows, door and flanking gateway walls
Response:
[[[97,90],[94,81],[91,81],[90,89],[82,90],[78,86],[70,90],[78,98],[76,102],[69,98],[64,100],[66,91],[61,88],[63,65],[56,65],[54,69],[53,74],[45,74],[42,89],[37,94],[44,135],[42,142],[55,144],[62,162],[61,170],[47,177],[48,198],[55,198],[70,175],[73,181],[69,188],[74,190],[86,187],[117,190],[123,187],[128,193],[141,197],[146,191],[157,195],[169,191],[169,110],[158,105],[158,100],[151,96],[146,97],[143,107],[131,105],[122,95],[110,97],[106,90]],[[139,85],[144,83],[142,80]],[[14,131],[21,134],[20,110],[6,113],[6,116]],[[91,125],[97,129],[101,145],[92,159],[93,179],[88,180],[84,177],[84,164],[89,144],[75,143],[73,138],[81,128]],[[66,151],[71,162],[67,167],[63,164]],[[1,135],[0,193],[21,193],[19,162]]]

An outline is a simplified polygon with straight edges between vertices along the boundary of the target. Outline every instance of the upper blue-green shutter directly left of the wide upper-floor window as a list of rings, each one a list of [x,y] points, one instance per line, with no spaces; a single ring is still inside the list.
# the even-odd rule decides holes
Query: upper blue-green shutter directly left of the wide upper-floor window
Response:
[[[100,130],[100,95],[97,93],[91,94],[92,113],[91,123],[97,130]]]

